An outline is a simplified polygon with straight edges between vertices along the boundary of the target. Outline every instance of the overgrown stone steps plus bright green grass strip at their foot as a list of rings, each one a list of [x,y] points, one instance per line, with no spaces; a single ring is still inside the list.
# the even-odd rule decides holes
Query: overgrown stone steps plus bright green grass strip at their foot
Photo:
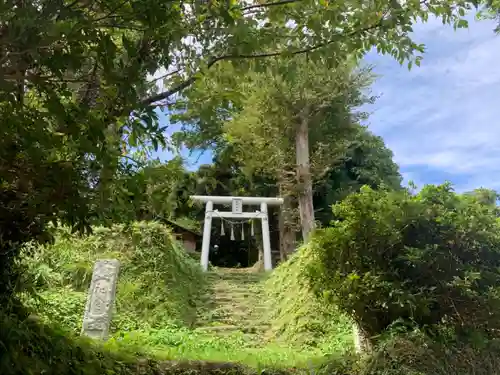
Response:
[[[236,362],[254,369],[308,370],[322,366],[330,345],[274,340],[264,289],[268,275],[252,269],[215,269],[194,328],[164,327],[114,337],[106,345],[145,351],[159,360]],[[349,343],[344,343],[348,348]]]

